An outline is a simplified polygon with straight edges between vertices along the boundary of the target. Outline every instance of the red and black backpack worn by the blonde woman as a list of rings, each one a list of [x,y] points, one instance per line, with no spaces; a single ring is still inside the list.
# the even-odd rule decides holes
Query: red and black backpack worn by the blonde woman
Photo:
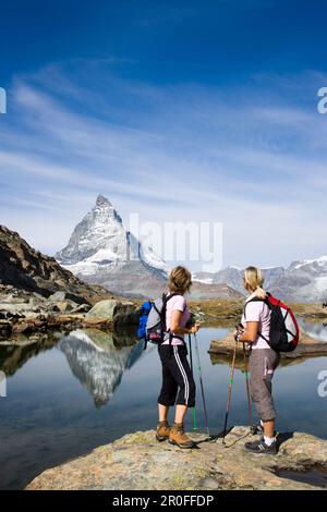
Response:
[[[261,332],[258,333],[276,352],[292,352],[300,341],[300,329],[292,309],[278,298],[267,293],[266,298],[254,297],[245,304],[245,309],[250,302],[263,301],[271,312],[269,340]]]

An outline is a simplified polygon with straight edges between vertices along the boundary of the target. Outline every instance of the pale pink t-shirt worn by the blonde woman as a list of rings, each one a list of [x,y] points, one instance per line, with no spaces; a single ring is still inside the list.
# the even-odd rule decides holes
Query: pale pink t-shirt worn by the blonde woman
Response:
[[[243,314],[241,321],[244,327],[246,327],[246,321],[258,321],[259,332],[267,340],[269,340],[271,312],[264,301],[253,301],[249,303],[249,301],[251,301],[255,296],[256,296],[255,294],[252,294],[250,295],[250,297],[246,298],[246,302],[245,302],[246,319]],[[253,350],[270,349],[270,345],[261,336],[258,336],[256,341],[254,343],[251,343],[251,348]]]

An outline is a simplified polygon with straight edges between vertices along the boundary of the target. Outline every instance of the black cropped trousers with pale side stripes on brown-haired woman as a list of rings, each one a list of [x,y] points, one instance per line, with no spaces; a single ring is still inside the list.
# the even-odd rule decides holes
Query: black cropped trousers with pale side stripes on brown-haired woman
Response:
[[[159,345],[162,387],[158,403],[166,406],[195,406],[195,382],[187,361],[186,345]]]

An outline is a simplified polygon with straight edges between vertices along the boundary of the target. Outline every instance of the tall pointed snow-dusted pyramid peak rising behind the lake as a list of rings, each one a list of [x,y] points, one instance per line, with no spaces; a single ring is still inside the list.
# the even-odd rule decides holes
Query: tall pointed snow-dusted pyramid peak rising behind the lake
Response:
[[[98,195],[56,259],[75,276],[118,295],[144,296],[162,289],[167,265],[129,232],[112,204]]]

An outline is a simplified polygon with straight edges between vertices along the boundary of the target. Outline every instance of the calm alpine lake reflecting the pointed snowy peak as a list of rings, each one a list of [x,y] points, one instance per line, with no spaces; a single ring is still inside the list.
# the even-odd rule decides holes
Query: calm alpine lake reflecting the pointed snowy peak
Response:
[[[209,354],[208,349],[233,325],[204,327],[197,336],[211,434],[223,427],[231,357]],[[323,324],[302,321],[301,327],[327,341]],[[194,368],[197,427],[204,430],[197,364]],[[5,394],[0,398],[1,489],[22,489],[46,468],[125,434],[156,427],[160,363],[156,346],[144,351],[136,341],[135,329],[114,333],[77,329],[23,344],[9,340],[0,344],[0,370],[5,375],[0,393]],[[327,439],[326,356],[282,363],[274,377],[274,397],[279,431]],[[239,366],[229,424],[246,423],[245,375]],[[191,413],[185,426],[194,427]]]

